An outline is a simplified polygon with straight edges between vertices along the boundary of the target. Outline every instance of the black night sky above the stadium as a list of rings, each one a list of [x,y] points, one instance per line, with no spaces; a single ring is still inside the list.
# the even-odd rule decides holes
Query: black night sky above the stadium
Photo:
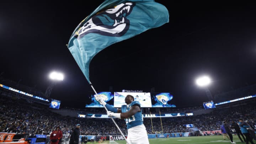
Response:
[[[66,44],[76,26],[103,0],[0,2],[0,73],[22,85],[45,92],[50,71],[64,80],[50,98],[61,106],[84,108],[89,83]],[[170,92],[177,107],[208,101],[195,79],[208,75],[212,95],[256,83],[256,5],[241,3],[173,2],[170,21],[98,53],[90,64],[96,91],[143,90]]]

